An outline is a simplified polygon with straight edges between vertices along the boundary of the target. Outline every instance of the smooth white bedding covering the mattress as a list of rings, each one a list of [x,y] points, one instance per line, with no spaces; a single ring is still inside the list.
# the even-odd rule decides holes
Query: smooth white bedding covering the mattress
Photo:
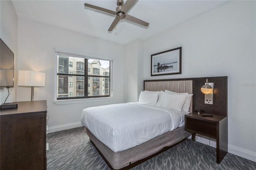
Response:
[[[127,150],[184,126],[184,112],[139,103],[90,107],[82,123],[114,152]]]

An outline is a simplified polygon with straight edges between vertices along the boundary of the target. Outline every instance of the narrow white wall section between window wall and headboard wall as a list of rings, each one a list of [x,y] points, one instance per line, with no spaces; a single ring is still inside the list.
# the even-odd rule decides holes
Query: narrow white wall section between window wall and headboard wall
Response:
[[[143,41],[134,40],[124,45],[124,103],[137,102],[143,89]]]

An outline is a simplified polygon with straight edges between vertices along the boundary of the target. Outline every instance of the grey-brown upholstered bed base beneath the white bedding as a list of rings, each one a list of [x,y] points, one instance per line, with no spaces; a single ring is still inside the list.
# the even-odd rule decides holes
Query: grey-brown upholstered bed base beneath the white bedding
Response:
[[[87,128],[85,128],[85,132],[90,137],[90,141],[100,152],[101,156],[104,156],[103,159],[108,161],[106,162],[107,164],[110,164],[108,164],[108,166],[112,166],[110,167],[111,169],[121,169],[129,166],[130,164],[147,158],[162,150],[164,147],[172,146],[191,135],[191,133],[184,130],[184,127],[179,127],[143,144],[135,146],[134,148],[115,153],[100,142]]]

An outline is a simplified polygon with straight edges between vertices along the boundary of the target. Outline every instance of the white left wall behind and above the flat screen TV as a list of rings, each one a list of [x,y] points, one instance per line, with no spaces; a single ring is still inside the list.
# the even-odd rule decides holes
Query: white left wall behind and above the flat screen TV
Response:
[[[17,77],[17,40],[18,40],[18,17],[12,1],[0,1],[0,38],[14,53],[14,79]],[[10,88],[10,95],[8,96],[8,89],[0,89],[0,104],[10,103],[16,101],[16,86],[17,81],[14,81],[14,88]]]

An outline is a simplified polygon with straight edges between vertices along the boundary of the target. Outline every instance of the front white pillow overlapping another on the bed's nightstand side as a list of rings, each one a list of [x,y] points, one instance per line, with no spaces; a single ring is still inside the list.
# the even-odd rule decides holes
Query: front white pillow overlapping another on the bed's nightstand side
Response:
[[[186,97],[188,96],[188,93],[179,93],[179,94],[173,94],[173,93],[166,93],[166,105],[168,109],[174,109],[178,111],[182,111],[182,106],[185,103]]]

